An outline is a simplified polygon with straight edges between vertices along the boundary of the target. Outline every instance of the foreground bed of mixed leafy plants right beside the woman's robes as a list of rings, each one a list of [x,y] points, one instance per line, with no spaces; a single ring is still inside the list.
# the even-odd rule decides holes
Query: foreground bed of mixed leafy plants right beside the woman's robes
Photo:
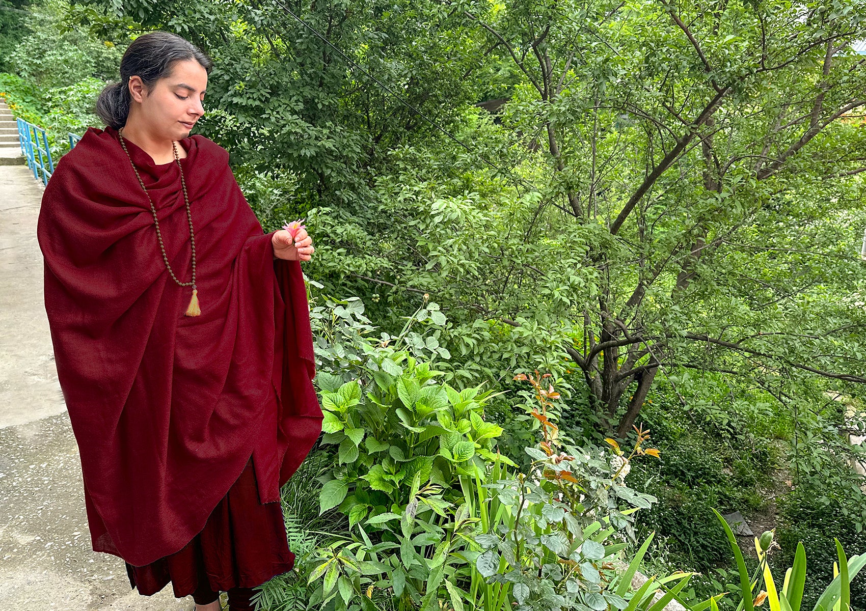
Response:
[[[527,447],[526,474],[511,470],[495,452],[501,427],[483,418],[491,393],[436,383],[441,372],[410,356],[442,356],[413,329],[447,324],[435,304],[419,308],[398,336],[380,338],[359,299],[325,304],[311,316],[322,361],[322,447],[335,448],[318,478],[318,519],[340,514],[348,529],[331,531],[305,558],[309,605],[426,609],[444,599],[491,611],[512,602],[624,608],[628,588],[606,564],[624,543],[603,542],[630,534],[630,513],[655,500],[624,485],[630,460],[655,452],[641,447],[646,437],[629,456],[615,442],[612,456],[563,445],[547,416],[558,394],[520,374],[536,391],[531,415],[542,441]]]

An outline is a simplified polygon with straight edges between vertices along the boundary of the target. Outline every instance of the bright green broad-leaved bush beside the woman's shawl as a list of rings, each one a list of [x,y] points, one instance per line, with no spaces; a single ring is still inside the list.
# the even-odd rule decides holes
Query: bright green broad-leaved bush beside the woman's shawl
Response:
[[[438,372],[406,359],[403,373],[395,375],[384,367],[399,367],[402,359],[383,356],[383,370],[363,389],[363,402],[358,381],[340,384],[328,373],[317,377],[326,411],[322,441],[338,446],[337,463],[343,466],[322,489],[321,511],[340,505],[350,526],[371,510],[373,518],[406,503],[416,475],[419,486],[448,489],[459,473],[494,460],[492,448],[502,429],[482,418],[489,391],[431,384]],[[447,506],[423,502],[434,511]]]

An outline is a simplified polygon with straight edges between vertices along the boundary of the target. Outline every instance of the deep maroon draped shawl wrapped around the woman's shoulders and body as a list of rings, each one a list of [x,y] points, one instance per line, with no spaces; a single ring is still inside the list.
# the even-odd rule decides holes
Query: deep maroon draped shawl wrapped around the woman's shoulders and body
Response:
[[[274,260],[221,146],[180,141],[202,313],[165,267],[145,192],[111,127],[87,129],[42,196],[45,310],[81,453],[95,551],[135,566],[202,531],[250,455],[277,502],[321,432],[299,261]],[[157,211],[165,255],[191,280],[177,162],[126,148]],[[134,483],[133,483],[134,482]]]

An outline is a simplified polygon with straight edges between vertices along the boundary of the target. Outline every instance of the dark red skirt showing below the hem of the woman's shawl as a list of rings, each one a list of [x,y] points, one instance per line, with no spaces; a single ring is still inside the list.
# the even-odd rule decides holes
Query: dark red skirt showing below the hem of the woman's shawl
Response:
[[[132,588],[156,594],[168,582],[177,598],[191,595],[199,579],[210,589],[252,588],[294,567],[279,502],[259,503],[252,456],[204,529],[182,550],[136,567],[126,563]]]

